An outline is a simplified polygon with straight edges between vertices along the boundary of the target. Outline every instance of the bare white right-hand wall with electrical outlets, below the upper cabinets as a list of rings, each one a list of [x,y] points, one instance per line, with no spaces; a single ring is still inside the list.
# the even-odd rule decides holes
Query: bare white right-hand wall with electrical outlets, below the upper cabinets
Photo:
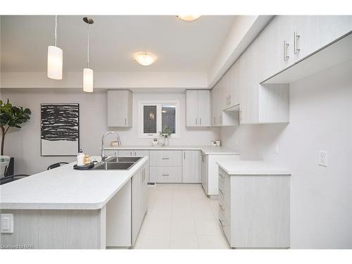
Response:
[[[289,124],[222,128],[244,159],[284,165],[291,176],[291,247],[352,249],[352,61],[290,85]],[[273,144],[279,144],[274,154]],[[327,151],[328,166],[318,165]]]

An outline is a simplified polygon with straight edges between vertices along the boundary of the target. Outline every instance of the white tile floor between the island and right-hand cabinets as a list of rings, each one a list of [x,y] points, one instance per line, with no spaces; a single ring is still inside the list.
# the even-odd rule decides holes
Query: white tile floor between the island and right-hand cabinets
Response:
[[[218,201],[201,184],[148,186],[148,211],[134,249],[229,249]]]

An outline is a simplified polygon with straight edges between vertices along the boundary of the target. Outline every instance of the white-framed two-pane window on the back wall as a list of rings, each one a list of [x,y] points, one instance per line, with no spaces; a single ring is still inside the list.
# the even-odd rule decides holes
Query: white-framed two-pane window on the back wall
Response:
[[[158,132],[168,127],[171,137],[178,137],[179,102],[147,102],[140,101],[141,137],[158,137]]]

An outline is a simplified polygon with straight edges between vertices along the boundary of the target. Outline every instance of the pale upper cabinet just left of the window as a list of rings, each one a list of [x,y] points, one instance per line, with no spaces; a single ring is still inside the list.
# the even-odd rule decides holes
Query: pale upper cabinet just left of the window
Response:
[[[132,127],[132,92],[108,90],[108,127]]]

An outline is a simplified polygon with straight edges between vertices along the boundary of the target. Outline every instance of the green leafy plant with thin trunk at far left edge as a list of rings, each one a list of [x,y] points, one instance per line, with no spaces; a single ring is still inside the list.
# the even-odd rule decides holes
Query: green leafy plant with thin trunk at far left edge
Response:
[[[13,106],[11,103],[0,101],[0,127],[1,127],[1,156],[4,155],[5,136],[10,127],[21,128],[21,124],[30,120],[30,109],[22,106]]]

